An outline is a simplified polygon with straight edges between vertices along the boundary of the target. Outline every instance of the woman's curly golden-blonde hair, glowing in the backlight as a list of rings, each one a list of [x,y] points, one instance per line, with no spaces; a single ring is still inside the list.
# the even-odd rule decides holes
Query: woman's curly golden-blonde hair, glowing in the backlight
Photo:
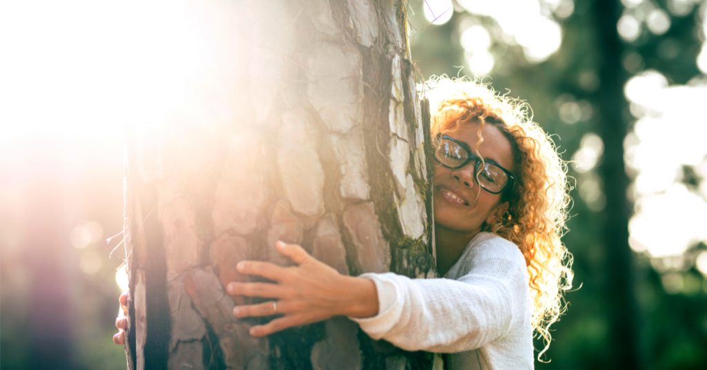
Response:
[[[454,129],[467,122],[495,125],[513,147],[515,183],[504,192],[508,211],[495,224],[484,225],[518,245],[525,257],[532,299],[531,323],[544,340],[538,359],[549,349],[550,325],[566,310],[564,292],[572,287],[572,255],[561,241],[571,198],[567,166],[548,134],[532,121],[530,106],[522,100],[493,91],[481,80],[433,77],[426,98],[432,113],[431,134]]]

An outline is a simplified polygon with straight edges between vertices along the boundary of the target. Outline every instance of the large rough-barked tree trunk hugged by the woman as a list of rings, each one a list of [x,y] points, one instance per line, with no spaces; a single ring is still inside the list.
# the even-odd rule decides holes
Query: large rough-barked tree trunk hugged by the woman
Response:
[[[346,318],[253,338],[262,321],[233,318],[244,301],[223,289],[249,279],[240,260],[287,264],[277,240],[344,274],[434,273],[407,3],[204,9],[209,52],[226,66],[199,81],[208,101],[127,131],[129,369],[431,367],[430,354],[373,342]]]

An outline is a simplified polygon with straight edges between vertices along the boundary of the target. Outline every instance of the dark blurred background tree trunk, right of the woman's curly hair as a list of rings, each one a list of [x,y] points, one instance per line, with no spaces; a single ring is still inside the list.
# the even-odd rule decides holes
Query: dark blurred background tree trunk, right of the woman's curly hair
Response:
[[[595,95],[599,108],[598,133],[604,141],[604,154],[599,166],[602,190],[607,207],[602,211],[605,270],[605,295],[610,318],[610,369],[642,369],[638,350],[636,321],[640,316],[634,291],[635,267],[629,247],[631,204],[626,197],[629,177],[624,166],[624,138],[628,124],[624,112],[626,72],[621,64],[624,48],[617,32],[621,5],[616,1],[595,1],[594,20],[602,50],[599,73],[602,86]]]

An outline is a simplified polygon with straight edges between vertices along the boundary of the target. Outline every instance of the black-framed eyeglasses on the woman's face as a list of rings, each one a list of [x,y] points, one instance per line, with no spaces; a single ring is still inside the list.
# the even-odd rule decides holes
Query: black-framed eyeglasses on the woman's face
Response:
[[[462,168],[474,161],[474,180],[491,194],[500,194],[515,180],[515,176],[509,170],[490,159],[482,160],[472,153],[466,143],[448,135],[437,134],[435,159],[442,166],[451,169]]]

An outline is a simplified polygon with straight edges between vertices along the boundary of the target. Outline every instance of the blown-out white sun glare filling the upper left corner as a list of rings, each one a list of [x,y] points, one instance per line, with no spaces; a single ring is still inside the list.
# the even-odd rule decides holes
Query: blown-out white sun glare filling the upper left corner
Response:
[[[0,144],[120,141],[124,125],[163,124],[214,92],[204,81],[223,70],[216,44],[228,32],[214,3],[40,3],[0,11]]]

